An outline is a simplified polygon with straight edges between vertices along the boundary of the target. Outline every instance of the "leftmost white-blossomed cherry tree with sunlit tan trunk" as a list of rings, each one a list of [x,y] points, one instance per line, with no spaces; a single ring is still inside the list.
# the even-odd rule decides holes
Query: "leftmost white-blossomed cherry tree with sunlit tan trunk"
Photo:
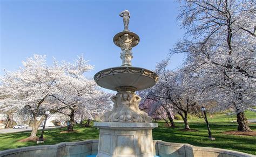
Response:
[[[30,138],[36,138],[37,129],[44,120],[44,112],[50,107],[43,105],[43,102],[54,91],[53,84],[58,74],[46,65],[45,56],[35,55],[22,64],[19,70],[6,72],[1,78],[2,93],[10,95],[3,99],[2,104],[6,105],[2,108],[26,108],[30,111],[33,117]],[[39,116],[42,117],[38,120]]]

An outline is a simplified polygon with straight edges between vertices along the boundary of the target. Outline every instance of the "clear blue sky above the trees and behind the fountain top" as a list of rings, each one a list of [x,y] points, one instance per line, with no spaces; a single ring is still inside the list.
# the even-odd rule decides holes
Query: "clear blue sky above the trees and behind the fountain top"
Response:
[[[72,61],[83,54],[95,65],[87,77],[108,67],[120,66],[120,48],[113,36],[123,30],[119,13],[131,12],[129,29],[137,33],[140,43],[133,47],[132,65],[153,70],[166,58],[169,49],[184,36],[176,17],[176,1],[7,1],[1,3],[1,72],[22,66],[33,54],[46,54]],[[175,69],[183,54],[174,56]]]

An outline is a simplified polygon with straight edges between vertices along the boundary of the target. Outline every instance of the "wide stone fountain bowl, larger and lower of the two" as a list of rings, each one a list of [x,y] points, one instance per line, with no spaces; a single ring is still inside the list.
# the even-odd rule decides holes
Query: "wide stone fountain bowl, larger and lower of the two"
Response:
[[[94,80],[99,86],[113,91],[119,91],[120,87],[132,87],[134,91],[140,91],[154,86],[158,76],[140,67],[118,66],[97,72]]]

